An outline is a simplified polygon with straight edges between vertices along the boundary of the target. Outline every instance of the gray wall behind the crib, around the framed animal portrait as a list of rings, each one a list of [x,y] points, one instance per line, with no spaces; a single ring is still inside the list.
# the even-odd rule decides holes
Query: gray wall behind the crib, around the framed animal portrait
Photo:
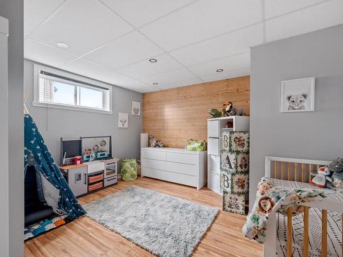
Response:
[[[343,156],[343,25],[251,50],[250,208],[265,156]],[[281,80],[316,77],[314,112],[281,113]]]

